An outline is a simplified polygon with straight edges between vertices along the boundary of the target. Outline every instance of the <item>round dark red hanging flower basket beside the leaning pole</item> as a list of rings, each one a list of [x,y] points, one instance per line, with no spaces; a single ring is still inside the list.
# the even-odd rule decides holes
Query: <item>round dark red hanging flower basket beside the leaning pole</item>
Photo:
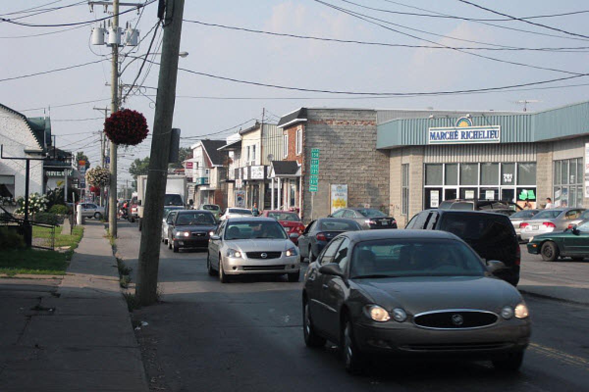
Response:
[[[135,146],[147,138],[147,120],[137,110],[123,109],[110,115],[104,122],[104,132],[117,145]]]

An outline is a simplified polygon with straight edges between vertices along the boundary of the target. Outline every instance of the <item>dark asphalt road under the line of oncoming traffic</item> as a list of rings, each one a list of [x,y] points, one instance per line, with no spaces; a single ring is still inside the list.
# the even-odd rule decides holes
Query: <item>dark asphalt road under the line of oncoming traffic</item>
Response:
[[[139,232],[123,223],[119,234],[118,257],[134,274]],[[519,374],[486,362],[382,361],[349,376],[335,346],[303,343],[302,283],[220,284],[206,272],[206,252],[173,253],[163,244],[159,271],[163,302],[133,313],[135,324],[147,322],[136,333],[154,391],[589,391],[584,306],[526,297],[534,329]]]

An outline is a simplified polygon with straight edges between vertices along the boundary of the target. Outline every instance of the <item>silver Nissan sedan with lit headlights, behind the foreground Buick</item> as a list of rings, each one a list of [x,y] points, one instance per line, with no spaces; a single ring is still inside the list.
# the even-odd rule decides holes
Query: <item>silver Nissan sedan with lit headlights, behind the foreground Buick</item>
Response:
[[[299,282],[300,254],[276,219],[265,217],[224,220],[209,242],[209,274],[221,283],[240,274],[286,274]]]

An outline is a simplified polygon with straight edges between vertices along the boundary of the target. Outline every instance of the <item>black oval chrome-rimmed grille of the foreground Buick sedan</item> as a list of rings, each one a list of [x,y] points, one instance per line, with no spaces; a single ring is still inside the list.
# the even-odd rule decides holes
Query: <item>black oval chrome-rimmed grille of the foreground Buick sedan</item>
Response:
[[[413,322],[425,328],[464,329],[490,326],[497,322],[498,316],[482,310],[445,310],[418,314]]]

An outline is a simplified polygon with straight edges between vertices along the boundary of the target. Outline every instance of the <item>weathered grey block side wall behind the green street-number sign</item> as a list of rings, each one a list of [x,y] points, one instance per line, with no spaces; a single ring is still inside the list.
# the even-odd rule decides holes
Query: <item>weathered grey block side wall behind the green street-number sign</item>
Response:
[[[313,219],[330,213],[330,185],[348,184],[348,206],[389,207],[389,152],[376,150],[376,110],[307,109],[305,162],[320,149],[319,189]],[[305,167],[303,217],[311,220],[309,165]]]

